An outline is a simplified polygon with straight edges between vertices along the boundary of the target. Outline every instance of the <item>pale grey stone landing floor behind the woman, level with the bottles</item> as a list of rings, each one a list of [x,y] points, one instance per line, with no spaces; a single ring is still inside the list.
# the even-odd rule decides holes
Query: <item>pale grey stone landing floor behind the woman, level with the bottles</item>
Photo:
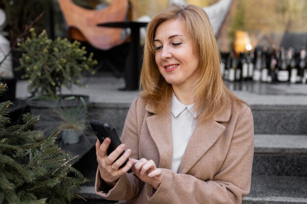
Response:
[[[64,89],[63,93],[86,94],[93,103],[131,103],[139,94],[138,91],[120,91],[125,87],[123,78],[116,78],[112,73],[102,72],[84,80],[87,89],[73,86],[72,90]],[[17,98],[29,96],[26,90],[28,82],[17,82]],[[252,105],[306,105],[307,84],[226,82],[227,86],[238,97]]]

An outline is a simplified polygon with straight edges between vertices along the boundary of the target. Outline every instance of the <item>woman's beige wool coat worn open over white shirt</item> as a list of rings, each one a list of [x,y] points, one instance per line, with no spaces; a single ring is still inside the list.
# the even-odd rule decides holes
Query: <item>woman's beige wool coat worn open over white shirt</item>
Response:
[[[171,111],[155,114],[139,98],[129,109],[122,142],[130,158],[152,159],[162,169],[162,181],[153,186],[126,173],[108,189],[96,175],[95,189],[108,200],[128,204],[240,204],[249,193],[254,155],[251,109],[230,103],[212,120],[197,123],[178,173],[170,170],[173,156]]]

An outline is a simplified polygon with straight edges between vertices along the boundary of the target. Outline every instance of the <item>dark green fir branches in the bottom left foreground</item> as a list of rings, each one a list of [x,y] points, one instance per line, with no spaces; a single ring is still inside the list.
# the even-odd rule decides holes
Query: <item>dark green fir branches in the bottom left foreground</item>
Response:
[[[0,94],[6,85],[0,83]],[[58,132],[37,142],[30,130],[38,116],[26,113],[23,123],[9,126],[0,103],[0,204],[69,204],[87,180],[71,166],[77,156],[64,154],[55,143]]]

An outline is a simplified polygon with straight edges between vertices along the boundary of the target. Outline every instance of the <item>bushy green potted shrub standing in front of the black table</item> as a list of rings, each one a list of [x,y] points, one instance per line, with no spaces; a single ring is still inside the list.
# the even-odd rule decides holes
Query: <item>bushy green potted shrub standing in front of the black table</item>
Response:
[[[80,97],[88,102],[88,96],[63,95],[62,88],[71,89],[73,85],[84,87],[83,75],[94,74],[92,67],[97,65],[97,61],[93,60],[93,53],[86,55],[85,47],[80,47],[80,42],[70,42],[66,38],[51,40],[45,30],[39,35],[33,28],[29,32],[30,36],[18,44],[23,55],[20,67],[16,69],[25,70],[22,78],[28,79],[28,91],[31,93],[27,104],[31,113],[39,114],[41,118],[34,128],[46,133],[46,126],[41,124],[48,121],[52,112],[50,108],[54,104],[74,107]]]

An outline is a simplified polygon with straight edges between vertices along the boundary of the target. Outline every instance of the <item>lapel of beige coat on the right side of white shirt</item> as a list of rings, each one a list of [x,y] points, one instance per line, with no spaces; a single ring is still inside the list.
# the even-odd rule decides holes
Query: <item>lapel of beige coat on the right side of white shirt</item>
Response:
[[[220,114],[215,115],[213,119],[207,120],[202,124],[196,124],[194,132],[183,154],[178,170],[179,173],[186,174],[194,164],[203,157],[208,149],[210,149],[210,147],[225,131],[225,126],[218,123],[218,121],[227,122],[229,119],[230,108],[228,107]]]

